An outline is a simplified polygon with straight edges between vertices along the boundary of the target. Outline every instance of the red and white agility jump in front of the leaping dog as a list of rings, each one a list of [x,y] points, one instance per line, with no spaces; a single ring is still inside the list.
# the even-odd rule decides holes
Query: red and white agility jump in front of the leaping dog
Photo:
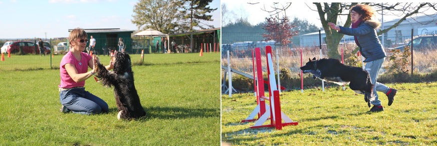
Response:
[[[277,89],[276,80],[274,78],[273,61],[271,58],[271,46],[265,46],[265,53],[267,59],[269,97],[264,96],[261,51],[260,48],[257,47],[255,48],[254,56],[252,53],[253,76],[255,77],[255,79],[253,80],[253,85],[257,105],[249,114],[249,116],[247,116],[247,118],[245,118],[244,120],[241,120],[241,122],[256,120],[256,123],[250,128],[275,127],[279,130],[282,129],[282,126],[297,125],[298,122],[292,121],[285,113],[280,110],[279,90]],[[265,100],[269,100],[269,105],[265,103]],[[254,119],[255,115],[258,115],[258,119]],[[268,118],[270,118],[270,124],[263,125],[263,123],[267,121]],[[282,120],[284,120],[283,123]]]

